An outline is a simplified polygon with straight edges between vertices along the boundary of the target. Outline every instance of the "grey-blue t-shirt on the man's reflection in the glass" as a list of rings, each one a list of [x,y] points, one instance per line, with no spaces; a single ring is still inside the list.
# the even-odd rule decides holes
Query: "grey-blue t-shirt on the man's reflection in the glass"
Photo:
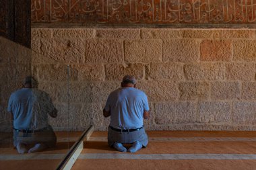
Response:
[[[11,93],[7,111],[13,113],[13,128],[38,130],[49,126],[48,114],[54,109],[53,102],[46,92],[23,88]]]

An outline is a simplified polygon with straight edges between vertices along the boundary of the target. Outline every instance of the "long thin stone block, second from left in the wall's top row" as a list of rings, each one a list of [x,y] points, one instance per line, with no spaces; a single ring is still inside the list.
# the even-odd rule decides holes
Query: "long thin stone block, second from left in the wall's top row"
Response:
[[[53,29],[54,38],[94,38],[94,29],[59,28]]]

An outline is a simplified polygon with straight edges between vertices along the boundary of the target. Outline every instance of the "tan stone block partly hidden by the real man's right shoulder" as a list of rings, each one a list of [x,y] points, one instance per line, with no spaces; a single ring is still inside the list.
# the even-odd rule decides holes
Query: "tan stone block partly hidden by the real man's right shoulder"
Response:
[[[172,81],[139,81],[137,88],[148,95],[148,101],[174,101],[178,97],[177,84]]]

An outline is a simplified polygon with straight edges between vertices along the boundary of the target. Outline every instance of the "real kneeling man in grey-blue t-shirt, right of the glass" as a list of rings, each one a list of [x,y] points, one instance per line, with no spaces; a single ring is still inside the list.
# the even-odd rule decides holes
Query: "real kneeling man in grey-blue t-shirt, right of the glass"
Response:
[[[148,144],[148,136],[143,128],[143,118],[150,116],[148,98],[135,86],[135,77],[123,77],[121,88],[108,95],[103,110],[105,118],[110,116],[108,145],[120,152],[127,152],[123,144],[132,144],[128,149],[130,153],[135,153]]]

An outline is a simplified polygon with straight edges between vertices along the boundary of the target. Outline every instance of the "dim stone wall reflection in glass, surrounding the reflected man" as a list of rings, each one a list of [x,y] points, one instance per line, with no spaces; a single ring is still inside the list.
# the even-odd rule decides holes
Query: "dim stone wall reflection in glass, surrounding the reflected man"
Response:
[[[73,75],[69,73],[69,67],[1,36],[0,44],[0,132],[12,131],[7,103],[11,93],[23,87],[24,78],[28,75],[34,75],[38,79],[39,88],[51,95],[59,110],[59,116],[55,119],[51,118],[50,121],[55,130],[75,130],[77,126],[73,126],[70,116],[72,111],[67,99],[69,88],[71,89],[69,80],[73,79]],[[75,72],[77,71],[73,69],[72,73]],[[58,100],[52,91],[57,85],[61,87],[58,88]],[[90,123],[84,122],[79,128],[82,130],[88,124]]]

